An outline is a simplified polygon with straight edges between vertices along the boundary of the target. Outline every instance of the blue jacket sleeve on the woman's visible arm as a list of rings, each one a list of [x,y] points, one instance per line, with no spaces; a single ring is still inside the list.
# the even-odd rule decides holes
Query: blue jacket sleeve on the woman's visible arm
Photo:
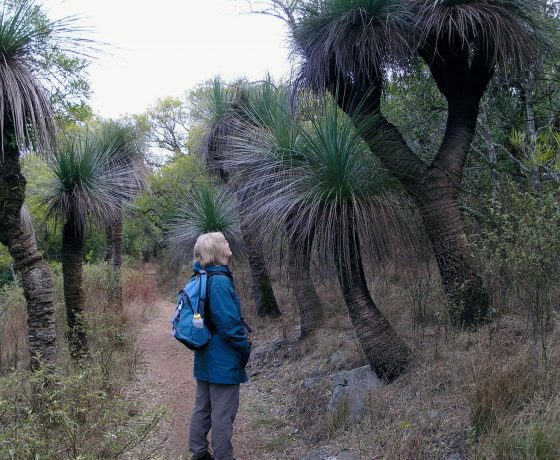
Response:
[[[220,277],[222,278],[222,277]],[[249,339],[241,322],[236,294],[229,280],[214,279],[210,286],[210,314],[218,334],[242,353],[249,351]]]

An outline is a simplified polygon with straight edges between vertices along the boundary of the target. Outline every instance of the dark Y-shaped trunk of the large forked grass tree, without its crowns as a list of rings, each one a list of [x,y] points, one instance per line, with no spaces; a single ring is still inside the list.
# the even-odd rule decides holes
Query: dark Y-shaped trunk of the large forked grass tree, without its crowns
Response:
[[[437,49],[436,58],[430,53],[422,57],[447,99],[448,118],[430,165],[412,152],[397,127],[381,113],[379,80],[349,81],[338,75],[330,91],[344,111],[371,126],[364,140],[419,205],[450,300],[451,319],[458,326],[476,325],[487,316],[489,297],[468,251],[458,196],[480,99],[492,71],[484,65],[488,61],[476,55],[469,66],[468,50],[457,55],[449,44],[438,44]]]

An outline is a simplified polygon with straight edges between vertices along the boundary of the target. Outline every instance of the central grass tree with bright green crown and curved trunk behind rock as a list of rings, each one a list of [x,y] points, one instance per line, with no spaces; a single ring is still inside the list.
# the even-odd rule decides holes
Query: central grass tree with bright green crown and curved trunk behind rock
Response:
[[[235,137],[235,158],[256,199],[249,212],[267,234],[288,232],[298,256],[313,242],[321,265],[334,265],[350,319],[375,371],[391,380],[402,374],[411,351],[373,301],[365,261],[383,248],[383,228],[398,221],[384,196],[379,165],[360,131],[333,102],[320,116],[282,137],[266,128]],[[286,225],[288,223],[288,225]],[[397,235],[394,232],[394,235]]]

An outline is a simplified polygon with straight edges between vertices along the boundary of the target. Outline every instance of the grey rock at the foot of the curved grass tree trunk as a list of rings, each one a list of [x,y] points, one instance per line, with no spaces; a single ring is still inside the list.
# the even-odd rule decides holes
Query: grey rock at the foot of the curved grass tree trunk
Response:
[[[380,386],[381,381],[370,366],[337,372],[333,377],[332,397],[327,410],[331,414],[347,410],[348,420],[357,422],[366,413],[369,393]]]

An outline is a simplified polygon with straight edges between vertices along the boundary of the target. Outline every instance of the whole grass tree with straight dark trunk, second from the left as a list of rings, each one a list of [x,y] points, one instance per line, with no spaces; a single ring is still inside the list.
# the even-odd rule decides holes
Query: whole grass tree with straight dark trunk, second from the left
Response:
[[[45,191],[47,215],[62,223],[62,274],[73,358],[87,353],[84,313],[83,257],[88,225],[121,215],[136,192],[134,168],[114,155],[114,146],[96,135],[74,133],[59,140],[48,158],[52,179]]]

